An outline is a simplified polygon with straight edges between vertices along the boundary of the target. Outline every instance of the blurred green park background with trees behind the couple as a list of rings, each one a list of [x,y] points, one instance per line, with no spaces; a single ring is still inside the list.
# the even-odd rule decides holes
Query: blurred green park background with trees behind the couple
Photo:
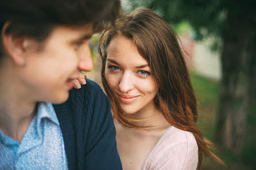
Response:
[[[199,125],[226,167],[206,160],[202,169],[256,169],[256,10],[253,1],[121,0],[125,13],[149,8],[180,37],[197,96]],[[92,37],[100,85],[99,35]]]

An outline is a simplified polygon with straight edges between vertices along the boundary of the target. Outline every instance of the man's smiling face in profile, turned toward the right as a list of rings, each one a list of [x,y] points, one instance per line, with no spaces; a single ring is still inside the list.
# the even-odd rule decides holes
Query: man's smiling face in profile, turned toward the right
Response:
[[[33,101],[61,103],[67,100],[72,80],[93,67],[88,41],[92,25],[57,26],[40,50],[30,50],[19,76]],[[38,42],[34,42],[38,44]]]

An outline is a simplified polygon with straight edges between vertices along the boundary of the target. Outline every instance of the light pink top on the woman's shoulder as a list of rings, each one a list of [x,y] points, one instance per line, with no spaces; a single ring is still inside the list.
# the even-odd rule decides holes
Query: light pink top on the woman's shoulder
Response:
[[[149,153],[142,170],[196,170],[197,163],[193,134],[170,126]]]

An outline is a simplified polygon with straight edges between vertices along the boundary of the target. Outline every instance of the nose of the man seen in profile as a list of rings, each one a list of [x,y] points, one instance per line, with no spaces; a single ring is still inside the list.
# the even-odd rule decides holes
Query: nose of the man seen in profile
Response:
[[[94,63],[92,62],[91,52],[88,43],[81,47],[79,50],[79,63],[78,69],[85,72],[90,72],[94,68]]]

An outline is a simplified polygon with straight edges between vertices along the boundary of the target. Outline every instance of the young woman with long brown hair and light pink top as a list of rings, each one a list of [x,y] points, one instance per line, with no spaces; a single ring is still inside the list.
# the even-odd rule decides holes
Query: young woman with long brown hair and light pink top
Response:
[[[104,31],[98,50],[123,169],[200,169],[222,163],[197,128],[196,98],[173,29],[135,10]]]

